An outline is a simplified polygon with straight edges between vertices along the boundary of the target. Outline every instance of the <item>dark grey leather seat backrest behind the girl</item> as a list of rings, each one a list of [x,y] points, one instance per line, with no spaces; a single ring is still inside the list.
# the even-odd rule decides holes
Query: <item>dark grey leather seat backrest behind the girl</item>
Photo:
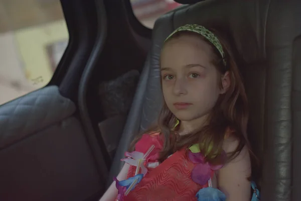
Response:
[[[183,6],[157,20],[152,49],[109,177],[120,170],[120,158],[133,137],[158,117],[163,100],[159,59],[165,38],[182,25],[200,24],[225,34],[239,58],[250,108],[248,134],[263,166],[262,200],[301,197],[301,191],[294,190],[301,184],[301,163],[296,161],[301,146],[294,146],[292,152],[292,146],[301,142],[297,105],[301,98],[300,8],[300,1],[207,0]]]

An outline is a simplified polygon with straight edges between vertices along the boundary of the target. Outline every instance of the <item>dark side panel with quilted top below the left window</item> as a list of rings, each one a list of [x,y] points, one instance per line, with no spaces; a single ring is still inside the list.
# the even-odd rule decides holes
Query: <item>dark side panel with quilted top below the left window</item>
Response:
[[[75,112],[57,86],[0,107],[1,200],[84,200],[101,188]]]

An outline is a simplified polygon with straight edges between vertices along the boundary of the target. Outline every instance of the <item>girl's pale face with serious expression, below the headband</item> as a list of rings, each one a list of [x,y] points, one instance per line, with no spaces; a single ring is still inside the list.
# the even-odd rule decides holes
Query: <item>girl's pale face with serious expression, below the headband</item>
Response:
[[[222,76],[212,64],[212,54],[212,47],[197,36],[171,39],[162,50],[164,99],[181,121],[204,121],[224,92],[220,85]]]

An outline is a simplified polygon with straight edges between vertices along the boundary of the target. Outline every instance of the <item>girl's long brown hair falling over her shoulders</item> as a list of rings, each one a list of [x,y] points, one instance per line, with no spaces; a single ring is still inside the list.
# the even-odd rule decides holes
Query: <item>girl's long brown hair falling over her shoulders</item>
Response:
[[[160,132],[165,139],[164,148],[161,152],[160,160],[165,160],[170,154],[183,148],[190,147],[198,143],[201,152],[206,155],[206,160],[212,164],[220,164],[221,153],[223,151],[223,142],[225,133],[230,129],[231,138],[235,139],[237,143],[236,149],[227,155],[227,159],[233,159],[240,153],[242,148],[248,145],[247,140],[247,122],[248,122],[248,105],[247,96],[243,86],[243,81],[238,70],[238,66],[234,60],[233,53],[226,41],[213,29],[209,29],[219,39],[225,52],[226,66],[223,64],[223,58],[218,52],[217,48],[205,39],[202,35],[189,32],[180,31],[175,33],[166,42],[178,39],[182,36],[197,36],[200,40],[207,42],[213,50],[212,62],[220,75],[227,71],[230,76],[230,86],[226,93],[220,94],[215,107],[212,109],[207,120],[207,124],[198,132],[188,135],[180,136],[177,130],[174,130],[176,117],[169,110],[164,103],[160,112],[158,123],[149,128],[144,133]],[[219,79],[221,82],[221,80]],[[220,87],[222,87],[220,83]],[[131,145],[133,150],[134,144],[140,139],[138,136]]]

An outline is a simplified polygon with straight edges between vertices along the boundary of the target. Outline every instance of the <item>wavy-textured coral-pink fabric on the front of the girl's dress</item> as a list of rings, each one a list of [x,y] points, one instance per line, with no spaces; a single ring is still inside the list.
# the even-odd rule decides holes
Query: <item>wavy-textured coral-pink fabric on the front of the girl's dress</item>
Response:
[[[159,135],[152,136],[160,140]],[[145,141],[144,141],[145,142]],[[138,150],[143,149],[145,152],[151,146],[143,141],[137,142]],[[139,148],[140,147],[140,148]],[[203,187],[208,187],[208,184],[199,185],[191,179],[191,171],[195,164],[190,161],[187,156],[186,149],[177,151],[172,156],[167,158],[158,167],[148,168],[148,172],[136,187],[123,198],[124,201],[136,200],[197,200],[196,193]],[[136,167],[130,166],[127,178],[134,176]],[[211,175],[214,171],[211,171]]]

